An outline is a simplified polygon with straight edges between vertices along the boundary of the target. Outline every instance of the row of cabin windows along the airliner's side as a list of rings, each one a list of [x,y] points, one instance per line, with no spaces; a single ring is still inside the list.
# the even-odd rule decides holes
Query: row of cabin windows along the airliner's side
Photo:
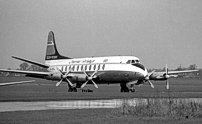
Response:
[[[95,71],[95,70],[104,70],[105,64],[103,65],[70,65],[70,66],[62,66],[62,71]]]

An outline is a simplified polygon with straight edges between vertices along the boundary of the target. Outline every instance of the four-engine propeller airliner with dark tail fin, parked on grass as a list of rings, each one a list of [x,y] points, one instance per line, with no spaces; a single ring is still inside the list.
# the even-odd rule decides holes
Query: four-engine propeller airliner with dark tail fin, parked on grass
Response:
[[[0,72],[20,73],[27,77],[58,81],[56,86],[65,81],[68,83],[68,92],[77,92],[77,88],[84,88],[87,83],[92,83],[95,88],[98,88],[97,84],[120,83],[120,92],[134,92],[134,85],[148,82],[154,88],[150,80],[166,80],[168,82],[167,79],[170,78],[168,71],[156,74],[154,70],[148,73],[140,59],[135,56],[87,58],[62,56],[57,50],[52,31],[48,33],[45,64],[16,56],[12,56],[12,58],[46,68],[48,72],[7,69],[0,69]],[[167,88],[169,88],[169,83],[167,83]]]

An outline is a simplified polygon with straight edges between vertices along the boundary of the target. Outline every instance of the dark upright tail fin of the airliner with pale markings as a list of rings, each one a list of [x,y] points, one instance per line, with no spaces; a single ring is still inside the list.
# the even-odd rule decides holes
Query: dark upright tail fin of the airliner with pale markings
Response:
[[[55,43],[54,33],[50,31],[48,34],[45,60],[59,60],[59,59],[71,59],[71,58],[59,54]]]

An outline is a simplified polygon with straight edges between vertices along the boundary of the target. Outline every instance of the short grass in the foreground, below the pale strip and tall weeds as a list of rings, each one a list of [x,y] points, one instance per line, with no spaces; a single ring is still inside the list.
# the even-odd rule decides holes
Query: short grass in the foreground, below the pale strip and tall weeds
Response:
[[[0,123],[9,124],[201,124],[202,119],[135,117],[117,115],[112,109],[46,110],[0,113]]]

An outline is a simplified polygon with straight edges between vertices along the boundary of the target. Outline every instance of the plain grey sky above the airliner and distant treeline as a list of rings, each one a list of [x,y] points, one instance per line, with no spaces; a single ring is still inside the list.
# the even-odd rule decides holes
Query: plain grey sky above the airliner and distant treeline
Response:
[[[49,31],[72,58],[202,68],[201,0],[0,0],[0,68],[19,68],[12,55],[44,63]]]

